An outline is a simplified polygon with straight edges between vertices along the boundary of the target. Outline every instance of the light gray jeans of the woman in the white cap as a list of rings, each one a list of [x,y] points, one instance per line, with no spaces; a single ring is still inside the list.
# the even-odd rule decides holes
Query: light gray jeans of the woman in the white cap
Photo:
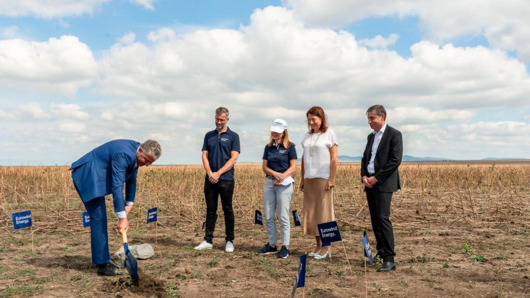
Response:
[[[289,208],[291,207],[291,199],[293,199],[293,183],[288,186],[275,186],[274,180],[269,178],[265,179],[265,187],[263,188],[263,210],[265,212],[269,244],[276,244],[278,241],[275,218],[275,212],[278,210],[281,245],[289,245],[291,233]]]

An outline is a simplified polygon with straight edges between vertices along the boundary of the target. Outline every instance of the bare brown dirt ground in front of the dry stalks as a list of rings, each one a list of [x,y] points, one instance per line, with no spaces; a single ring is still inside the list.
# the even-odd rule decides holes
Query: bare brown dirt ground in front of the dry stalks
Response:
[[[155,234],[149,226],[130,233],[131,244],[148,242],[155,249],[154,258],[138,261],[150,287],[131,284],[126,270],[96,275],[88,230],[36,235],[34,251],[29,230],[4,233],[0,296],[288,297],[298,257],[313,245],[293,227],[287,259],[260,256],[266,231],[255,227],[236,229],[235,252],[225,253],[221,222],[214,249],[195,251],[201,232],[170,231]],[[306,297],[530,297],[529,230],[396,230],[398,267],[392,273],[377,273],[377,265],[365,272],[361,236],[360,230],[342,231],[351,272],[340,242],[333,243],[331,261],[308,258]],[[111,251],[118,250],[117,234],[110,242]],[[302,288],[296,296],[302,297]]]

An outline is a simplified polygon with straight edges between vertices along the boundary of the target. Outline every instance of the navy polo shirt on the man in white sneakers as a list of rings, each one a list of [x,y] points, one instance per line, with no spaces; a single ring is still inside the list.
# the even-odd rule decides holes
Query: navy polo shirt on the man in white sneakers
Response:
[[[228,127],[226,128],[226,132],[220,134],[217,132],[217,129],[214,129],[204,136],[202,151],[205,150],[208,151],[208,162],[210,163],[211,171],[217,172],[230,159],[232,151],[241,153],[239,136]],[[208,173],[206,174],[206,179],[208,179]],[[233,181],[234,167],[232,166],[232,169],[223,173],[219,177],[219,180]]]

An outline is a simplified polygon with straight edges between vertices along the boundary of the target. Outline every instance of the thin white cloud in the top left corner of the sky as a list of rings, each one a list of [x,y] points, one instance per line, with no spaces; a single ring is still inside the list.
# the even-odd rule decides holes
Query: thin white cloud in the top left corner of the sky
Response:
[[[59,17],[92,14],[110,0],[6,0],[0,2],[0,15]]]

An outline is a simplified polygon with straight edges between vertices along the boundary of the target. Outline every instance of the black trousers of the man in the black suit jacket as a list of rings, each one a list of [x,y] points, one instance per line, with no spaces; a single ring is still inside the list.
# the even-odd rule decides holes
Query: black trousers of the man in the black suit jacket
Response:
[[[374,188],[365,188],[372,229],[374,230],[376,248],[384,262],[394,262],[394,231],[390,222],[390,202],[392,192],[382,192]]]

